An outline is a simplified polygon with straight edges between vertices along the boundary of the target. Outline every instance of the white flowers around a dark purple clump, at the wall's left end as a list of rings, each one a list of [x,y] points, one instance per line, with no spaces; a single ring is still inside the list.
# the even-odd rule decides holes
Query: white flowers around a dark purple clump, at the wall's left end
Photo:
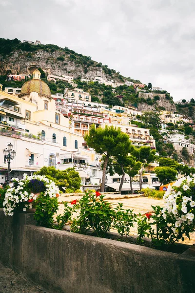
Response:
[[[59,189],[55,183],[45,176],[24,174],[21,180],[13,178],[10,188],[5,194],[4,213],[6,216],[12,216],[14,210],[32,209],[39,195],[54,198],[58,193]]]

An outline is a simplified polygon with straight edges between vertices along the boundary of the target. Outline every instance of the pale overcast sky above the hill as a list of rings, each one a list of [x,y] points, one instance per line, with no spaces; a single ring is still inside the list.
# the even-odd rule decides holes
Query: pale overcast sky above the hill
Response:
[[[194,0],[0,0],[0,37],[68,47],[195,98]]]

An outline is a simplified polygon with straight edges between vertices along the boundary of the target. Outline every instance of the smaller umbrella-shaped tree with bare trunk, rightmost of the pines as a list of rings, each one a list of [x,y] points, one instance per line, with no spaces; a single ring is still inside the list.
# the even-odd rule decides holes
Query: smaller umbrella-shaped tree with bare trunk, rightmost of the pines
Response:
[[[156,150],[152,150],[150,146],[141,146],[139,148],[133,146],[131,154],[141,163],[141,168],[139,169],[139,188],[141,190],[144,167],[155,160]]]

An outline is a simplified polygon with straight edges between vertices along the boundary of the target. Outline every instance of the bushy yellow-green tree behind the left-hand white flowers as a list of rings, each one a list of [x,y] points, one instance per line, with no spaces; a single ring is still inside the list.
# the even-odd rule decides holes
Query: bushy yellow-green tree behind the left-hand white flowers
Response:
[[[63,187],[71,188],[74,191],[80,188],[81,179],[74,168],[61,171],[55,167],[42,167],[36,174],[45,175],[48,179],[53,180],[61,191],[64,191]]]

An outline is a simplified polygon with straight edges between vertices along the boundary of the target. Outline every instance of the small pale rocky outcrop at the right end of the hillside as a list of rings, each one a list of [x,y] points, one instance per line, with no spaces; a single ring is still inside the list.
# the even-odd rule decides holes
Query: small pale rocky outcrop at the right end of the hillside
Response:
[[[147,100],[150,98],[154,99],[155,96],[159,96],[159,100],[156,100],[154,105],[147,105],[146,103],[138,104],[139,111],[155,111],[156,109],[165,109],[167,111],[176,111],[176,105],[172,102],[172,100],[167,100],[165,94],[157,94],[157,93],[141,93],[139,92],[138,97]]]

